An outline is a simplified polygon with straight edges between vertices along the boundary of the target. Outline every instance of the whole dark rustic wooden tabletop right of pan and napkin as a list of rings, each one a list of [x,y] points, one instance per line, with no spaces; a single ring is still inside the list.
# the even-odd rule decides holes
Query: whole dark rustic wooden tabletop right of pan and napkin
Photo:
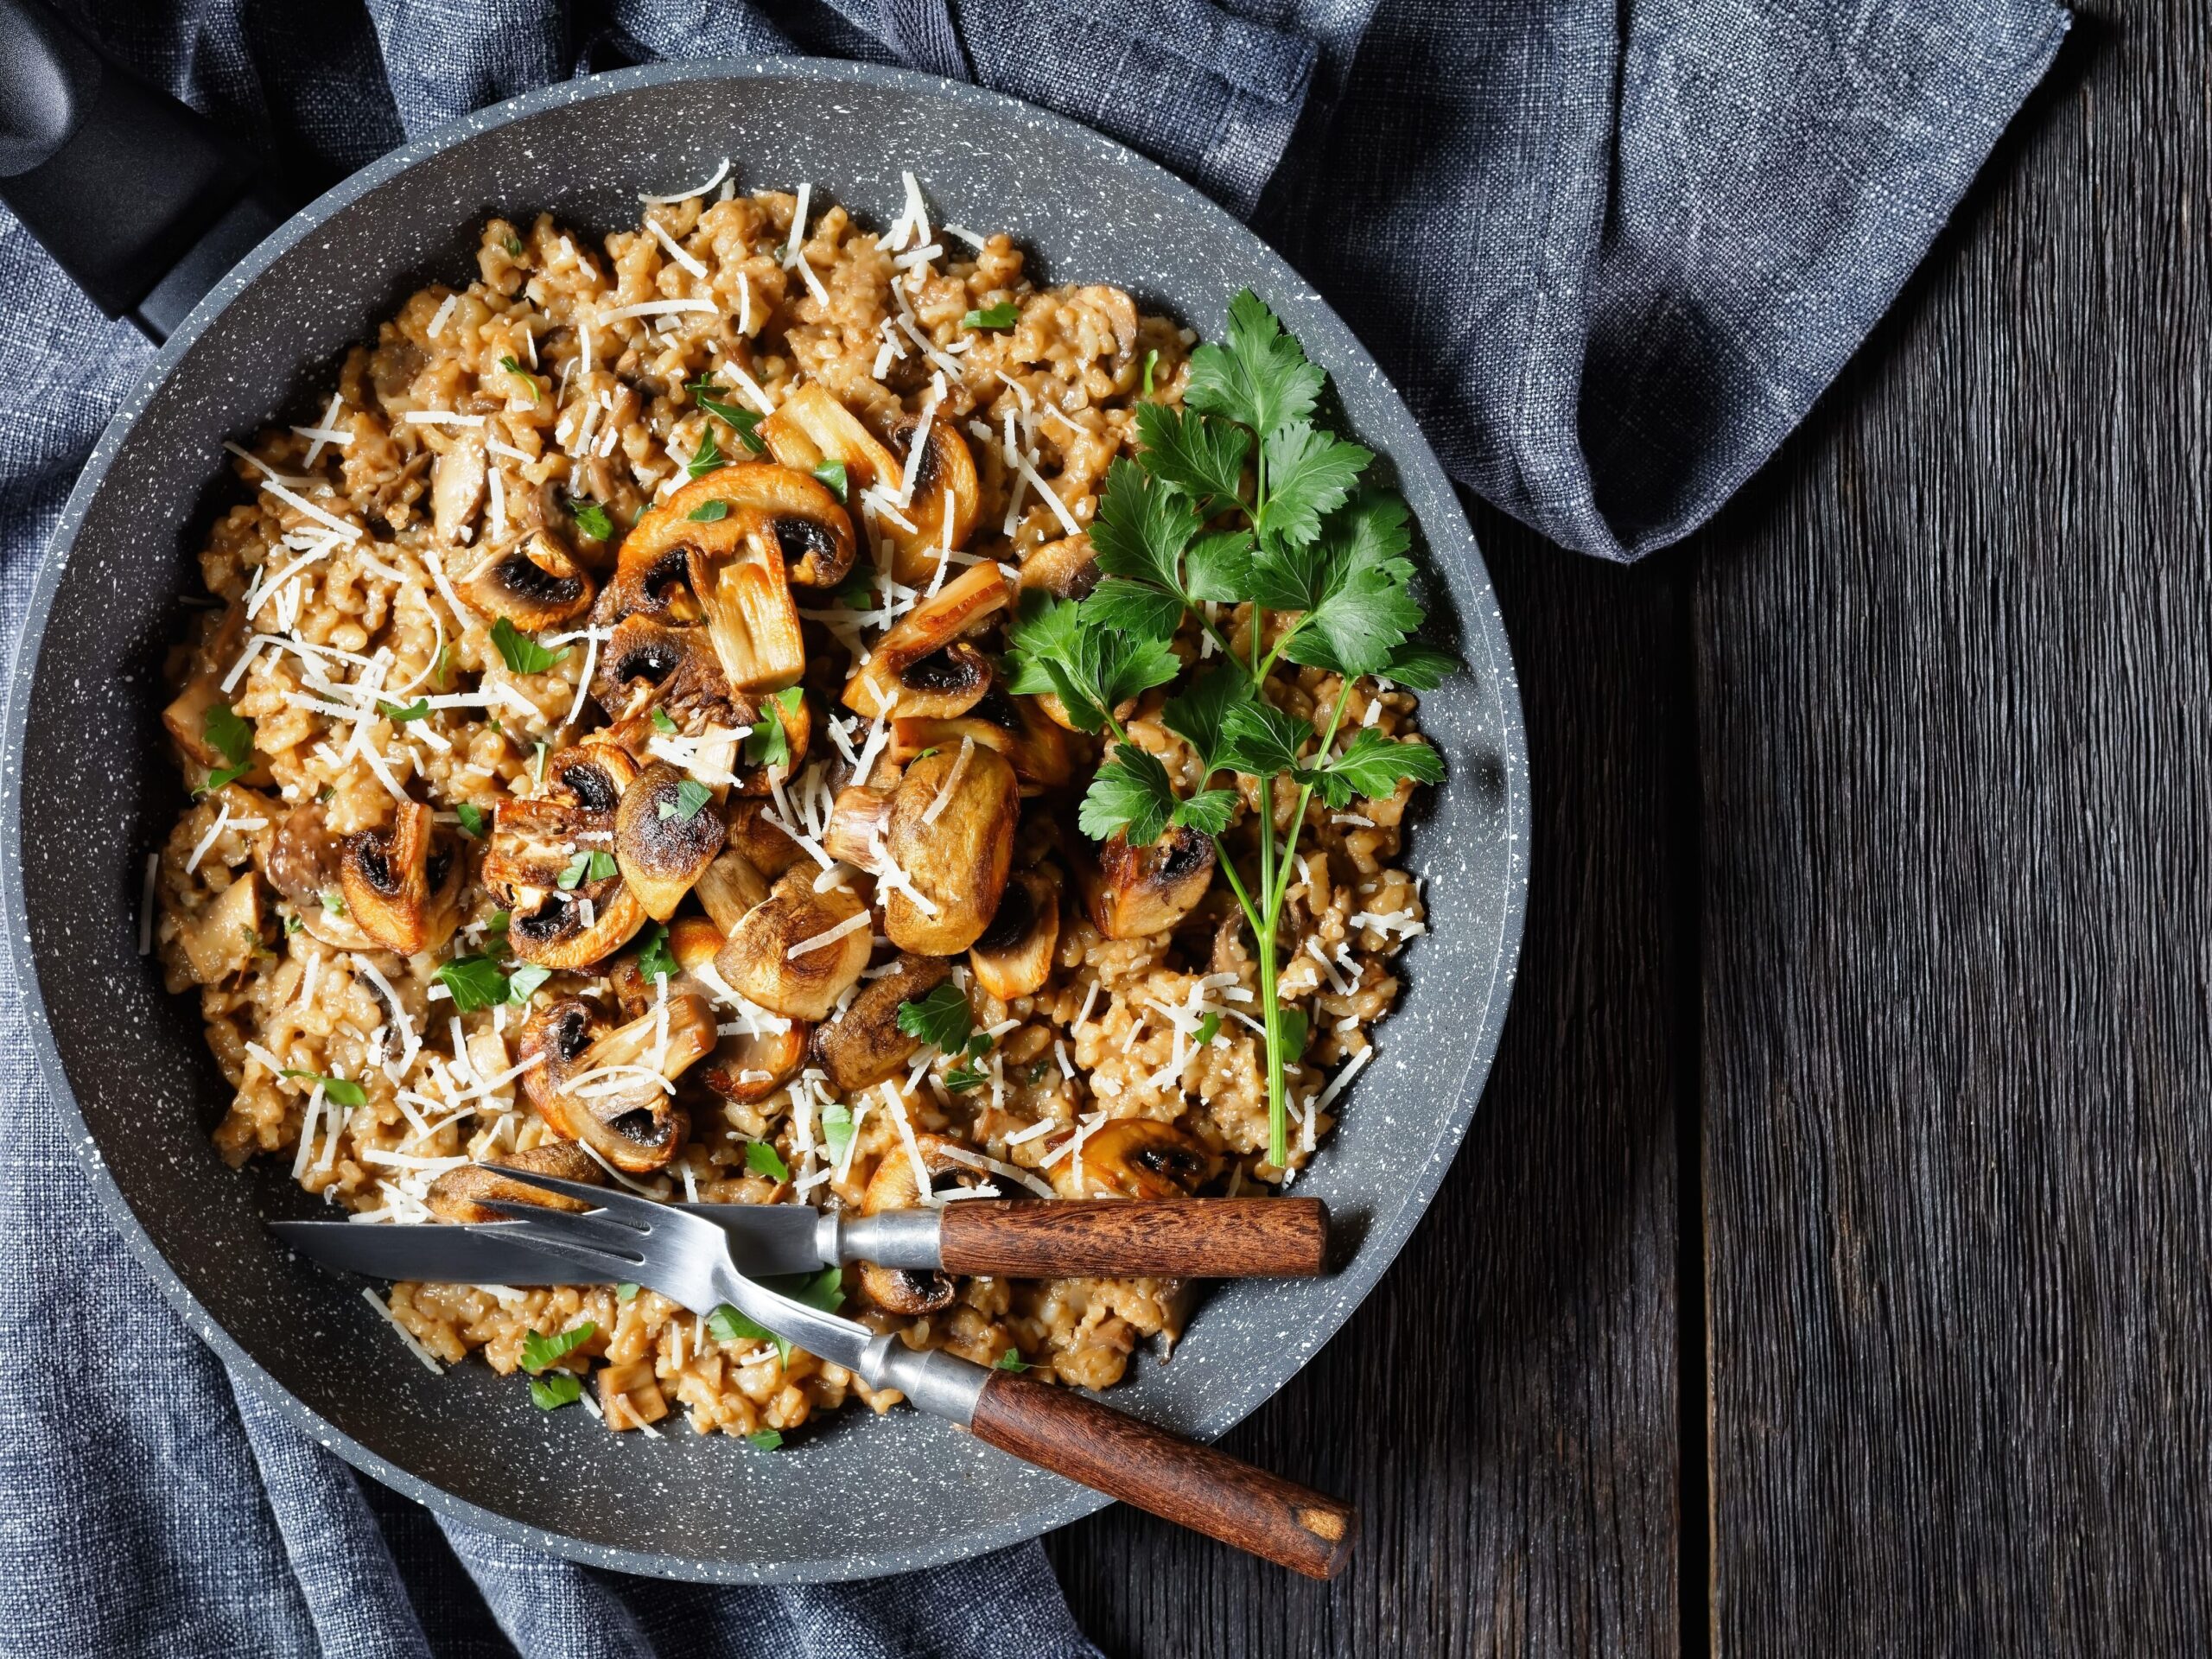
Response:
[[[2081,18],[1719,522],[1473,507],[1535,872],[1429,1219],[1225,1444],[1314,1586],[1126,1509],[1121,1655],[2212,1648],[2212,15]]]

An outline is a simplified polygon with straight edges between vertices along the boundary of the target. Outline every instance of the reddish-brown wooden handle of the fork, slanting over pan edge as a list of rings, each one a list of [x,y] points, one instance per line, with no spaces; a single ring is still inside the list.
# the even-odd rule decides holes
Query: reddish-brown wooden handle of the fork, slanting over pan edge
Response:
[[[1075,1389],[993,1371],[969,1427],[978,1440],[1024,1462],[1310,1579],[1336,1577],[1352,1557],[1360,1520],[1352,1504],[1155,1429]]]

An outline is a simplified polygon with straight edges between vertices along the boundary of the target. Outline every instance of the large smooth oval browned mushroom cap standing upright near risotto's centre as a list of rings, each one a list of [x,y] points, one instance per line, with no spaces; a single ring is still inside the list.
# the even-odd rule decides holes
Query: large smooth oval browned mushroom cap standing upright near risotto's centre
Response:
[[[982,743],[907,768],[883,845],[905,880],[878,880],[883,931],[902,951],[953,956],[973,945],[1006,891],[1022,787]]]

